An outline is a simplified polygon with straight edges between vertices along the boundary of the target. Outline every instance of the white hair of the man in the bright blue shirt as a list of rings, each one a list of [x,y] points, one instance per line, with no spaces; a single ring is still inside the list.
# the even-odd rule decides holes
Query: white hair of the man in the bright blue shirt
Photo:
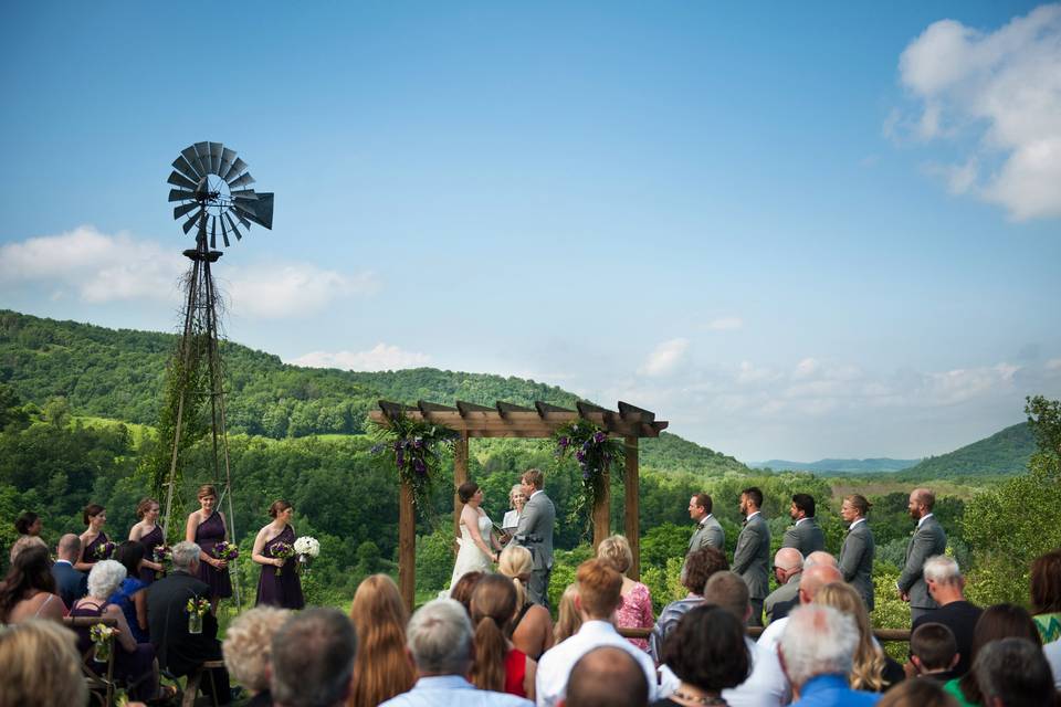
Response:
[[[847,677],[858,645],[854,619],[832,606],[805,604],[788,614],[779,650],[788,679],[799,687],[816,675]]]

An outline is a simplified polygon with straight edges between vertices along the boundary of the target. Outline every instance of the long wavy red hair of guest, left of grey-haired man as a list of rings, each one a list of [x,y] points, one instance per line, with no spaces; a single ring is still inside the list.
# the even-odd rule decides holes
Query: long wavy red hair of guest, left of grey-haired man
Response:
[[[376,707],[417,682],[406,655],[409,612],[395,580],[372,574],[354,593],[350,619],[357,631],[354,687],[348,707]]]

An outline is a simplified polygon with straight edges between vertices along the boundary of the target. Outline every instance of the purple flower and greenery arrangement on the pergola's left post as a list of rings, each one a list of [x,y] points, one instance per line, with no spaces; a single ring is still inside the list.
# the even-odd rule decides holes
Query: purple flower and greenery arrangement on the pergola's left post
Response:
[[[395,456],[398,478],[412,487],[412,503],[421,515],[428,515],[428,498],[442,462],[440,447],[452,446],[459,433],[444,425],[412,420],[403,414],[390,422],[374,423],[379,443],[372,452],[384,450]]]

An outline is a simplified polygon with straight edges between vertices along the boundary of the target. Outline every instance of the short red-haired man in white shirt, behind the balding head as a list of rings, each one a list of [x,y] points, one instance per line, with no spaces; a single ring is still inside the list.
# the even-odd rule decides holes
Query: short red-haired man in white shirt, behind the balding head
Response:
[[[698,552],[707,550],[714,548],[705,548]],[[614,645],[633,655],[649,683],[649,698],[655,699],[655,666],[652,658],[630,645],[612,624],[612,614],[622,602],[622,576],[600,560],[587,560],[578,566],[576,579],[578,595],[575,598],[575,606],[582,618],[582,625],[570,639],[546,651],[538,662],[535,686],[537,704],[545,707],[558,704],[564,698],[567,678],[578,658],[602,645]]]

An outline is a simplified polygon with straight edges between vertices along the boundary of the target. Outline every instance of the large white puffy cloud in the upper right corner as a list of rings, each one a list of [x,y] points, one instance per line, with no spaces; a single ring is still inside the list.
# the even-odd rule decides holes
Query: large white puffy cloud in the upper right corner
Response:
[[[975,193],[1017,220],[1061,217],[1061,4],[995,32],[935,22],[899,64],[920,115],[893,112],[886,135],[955,140],[966,155],[939,170],[953,193]]]

